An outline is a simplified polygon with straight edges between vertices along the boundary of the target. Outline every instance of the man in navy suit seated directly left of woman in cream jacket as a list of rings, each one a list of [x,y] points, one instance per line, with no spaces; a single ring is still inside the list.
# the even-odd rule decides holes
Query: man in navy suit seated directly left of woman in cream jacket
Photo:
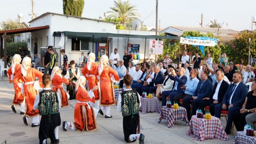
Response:
[[[153,93],[155,90],[157,90],[157,85],[164,82],[164,73],[160,71],[160,66],[154,67],[154,78],[151,75],[148,75],[149,78],[152,79],[151,82],[147,86],[143,86],[141,88],[142,92]]]

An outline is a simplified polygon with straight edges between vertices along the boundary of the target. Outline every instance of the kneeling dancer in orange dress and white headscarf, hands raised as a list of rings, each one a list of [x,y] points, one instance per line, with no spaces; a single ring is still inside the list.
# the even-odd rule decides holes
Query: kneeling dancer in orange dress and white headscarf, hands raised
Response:
[[[85,89],[86,78],[84,76],[80,76],[76,82],[76,106],[74,112],[75,122],[62,122],[62,129],[66,130],[67,126],[70,126],[71,130],[78,130],[82,132],[86,129],[86,131],[94,131],[97,130],[96,126],[96,116],[98,114],[98,110],[92,106],[88,102],[95,102],[95,96],[93,91],[98,89],[98,86],[93,87],[89,92]]]

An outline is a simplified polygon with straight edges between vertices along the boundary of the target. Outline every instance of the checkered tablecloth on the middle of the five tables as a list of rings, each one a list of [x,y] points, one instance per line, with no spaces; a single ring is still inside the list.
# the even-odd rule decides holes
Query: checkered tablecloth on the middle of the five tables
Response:
[[[184,107],[181,106],[179,106],[178,109],[170,109],[166,108],[166,106],[163,106],[158,123],[160,123],[162,119],[167,120],[168,128],[173,128],[173,122],[178,120],[186,121],[186,124],[188,126],[187,111]]]

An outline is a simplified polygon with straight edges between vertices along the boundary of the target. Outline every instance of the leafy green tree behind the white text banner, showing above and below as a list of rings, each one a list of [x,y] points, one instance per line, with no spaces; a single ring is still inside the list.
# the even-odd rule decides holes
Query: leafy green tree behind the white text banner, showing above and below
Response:
[[[200,33],[200,31],[184,31],[182,37],[186,37],[186,36],[191,36],[191,37],[210,37],[210,38],[215,38],[214,34],[211,32],[207,32],[207,33]],[[213,62],[217,62],[217,59],[219,58],[220,54],[221,54],[221,48],[226,48],[224,44],[221,45],[216,45],[214,47],[204,47],[204,54],[205,56],[203,56],[201,50],[198,47],[193,47],[193,45],[188,45],[188,49],[191,52],[191,54],[193,55],[195,51],[199,52],[199,55],[201,56],[201,58],[203,59],[204,57],[207,56],[207,53],[211,53],[211,57],[213,58]],[[229,55],[227,55],[229,56]]]

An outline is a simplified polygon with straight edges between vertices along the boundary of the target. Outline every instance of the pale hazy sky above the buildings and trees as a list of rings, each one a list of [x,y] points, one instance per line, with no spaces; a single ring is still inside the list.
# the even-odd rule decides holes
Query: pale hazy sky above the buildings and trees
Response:
[[[124,1],[124,0],[122,0]],[[148,27],[155,27],[156,0],[129,0],[137,6],[139,18]],[[40,16],[46,12],[63,13],[62,0],[34,0],[34,13]],[[114,0],[85,0],[82,17],[96,18],[111,11]],[[236,31],[251,30],[252,16],[256,16],[256,0],[158,0],[158,20],[160,27],[190,26],[199,27],[201,14],[203,26],[214,19],[223,24],[223,28]],[[29,22],[32,13],[31,0],[0,0],[0,23],[7,19],[17,20],[23,13],[24,22]],[[158,23],[159,27],[159,23]],[[253,29],[255,25],[253,25]]]

